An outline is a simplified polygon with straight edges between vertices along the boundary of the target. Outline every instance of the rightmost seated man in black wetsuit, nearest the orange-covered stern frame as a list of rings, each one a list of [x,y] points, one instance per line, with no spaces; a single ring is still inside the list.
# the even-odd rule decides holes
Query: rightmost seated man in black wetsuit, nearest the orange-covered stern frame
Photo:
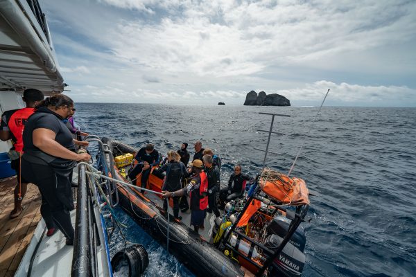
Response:
[[[249,180],[251,180],[250,176],[241,173],[241,166],[235,166],[234,173],[229,177],[228,187],[221,189],[220,200],[229,202],[232,199],[243,196],[245,183]]]

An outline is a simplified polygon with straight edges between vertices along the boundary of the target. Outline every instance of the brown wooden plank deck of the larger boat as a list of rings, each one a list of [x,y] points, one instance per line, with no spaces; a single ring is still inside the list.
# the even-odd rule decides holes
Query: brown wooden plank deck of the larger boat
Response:
[[[14,208],[13,190],[16,177],[0,179],[0,276],[13,276],[21,258],[31,242],[40,215],[41,197],[37,186],[28,184],[23,199],[24,210],[12,220]]]

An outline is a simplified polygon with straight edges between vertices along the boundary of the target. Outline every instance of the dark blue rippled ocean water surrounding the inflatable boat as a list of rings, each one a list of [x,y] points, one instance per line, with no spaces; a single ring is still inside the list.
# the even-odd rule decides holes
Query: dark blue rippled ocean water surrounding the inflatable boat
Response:
[[[76,104],[87,132],[137,148],[151,142],[166,154],[201,140],[223,160],[226,184],[237,163],[254,176],[262,166],[271,116],[275,118],[266,165],[287,173],[304,143],[292,176],[305,179],[311,197],[303,276],[415,276],[416,109]],[[128,240],[150,253],[146,276],[192,276],[130,218]],[[114,249],[112,250],[114,251]]]

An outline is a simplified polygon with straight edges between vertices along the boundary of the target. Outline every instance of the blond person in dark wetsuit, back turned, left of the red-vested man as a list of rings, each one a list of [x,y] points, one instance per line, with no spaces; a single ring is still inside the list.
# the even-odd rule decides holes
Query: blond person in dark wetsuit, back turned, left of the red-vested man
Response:
[[[166,178],[162,186],[162,190],[166,191],[180,190],[182,178],[187,176],[187,168],[180,161],[180,155],[172,150],[168,152],[168,163],[157,169],[156,172],[157,174],[166,172]],[[182,220],[182,217],[179,216],[179,200],[179,196],[173,197],[173,216],[177,220]],[[163,202],[163,208],[165,211],[168,208],[166,201]]]

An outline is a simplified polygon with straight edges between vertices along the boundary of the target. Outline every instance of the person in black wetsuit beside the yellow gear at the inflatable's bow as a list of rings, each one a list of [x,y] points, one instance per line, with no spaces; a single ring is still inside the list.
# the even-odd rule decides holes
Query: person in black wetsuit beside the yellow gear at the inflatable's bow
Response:
[[[140,148],[135,159],[139,163],[128,173],[128,177],[130,180],[135,181],[136,176],[141,173],[141,187],[146,188],[150,170],[152,170],[153,166],[159,164],[159,152],[155,150],[155,145],[148,143],[146,147]]]

